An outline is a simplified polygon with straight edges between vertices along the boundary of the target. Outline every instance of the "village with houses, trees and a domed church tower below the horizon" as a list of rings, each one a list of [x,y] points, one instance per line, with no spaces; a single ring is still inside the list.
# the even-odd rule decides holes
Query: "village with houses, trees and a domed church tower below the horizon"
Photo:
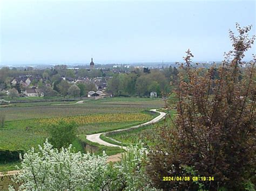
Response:
[[[118,66],[118,65],[117,65]],[[152,70],[152,73],[151,73]],[[169,68],[149,69],[118,66],[95,68],[93,59],[90,68],[68,68],[57,65],[49,69],[0,69],[1,104],[17,98],[105,98],[112,96],[165,96],[167,77],[177,77],[178,70]],[[166,77],[160,76],[165,73]],[[150,77],[150,75],[152,75]],[[13,77],[11,77],[13,76]],[[160,77],[158,77],[160,76]],[[140,78],[141,79],[140,79]],[[149,79],[147,79],[149,77]],[[138,80],[138,81],[137,81]]]

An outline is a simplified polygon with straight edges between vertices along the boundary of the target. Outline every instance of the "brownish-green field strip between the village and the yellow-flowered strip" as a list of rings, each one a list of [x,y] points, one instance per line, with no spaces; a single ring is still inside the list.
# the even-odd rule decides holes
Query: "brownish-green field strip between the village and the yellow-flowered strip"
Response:
[[[110,99],[110,100],[109,100]],[[68,117],[91,114],[122,114],[140,112],[145,109],[160,108],[164,106],[162,100],[145,100],[142,98],[119,98],[117,101],[107,100],[89,101],[84,104],[57,103],[19,103],[10,107],[0,108],[0,113],[5,115],[6,121],[19,119]],[[130,100],[130,101],[127,101]]]

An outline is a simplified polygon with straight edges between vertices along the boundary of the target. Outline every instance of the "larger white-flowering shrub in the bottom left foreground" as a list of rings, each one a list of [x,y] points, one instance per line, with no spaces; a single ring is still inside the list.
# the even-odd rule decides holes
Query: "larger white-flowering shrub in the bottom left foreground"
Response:
[[[46,140],[39,152],[31,148],[24,154],[14,180],[18,190],[99,190],[105,183],[106,159],[106,154],[74,153],[71,145],[58,151]]]

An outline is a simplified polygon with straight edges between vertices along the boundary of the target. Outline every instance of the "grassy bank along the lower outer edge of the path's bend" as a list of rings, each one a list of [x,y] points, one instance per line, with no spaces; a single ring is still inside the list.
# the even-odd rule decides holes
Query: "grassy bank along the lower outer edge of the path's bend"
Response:
[[[87,151],[93,152],[96,155],[101,156],[103,154],[103,151],[105,151],[105,153],[107,155],[118,154],[118,153],[121,153],[121,152],[125,151],[125,150],[123,150],[122,148],[119,148],[119,147],[103,146],[103,145],[100,145],[98,143],[90,142],[90,140],[86,139],[85,135],[79,135],[78,139],[79,139],[80,143],[83,144],[84,147],[86,147],[86,152]]]

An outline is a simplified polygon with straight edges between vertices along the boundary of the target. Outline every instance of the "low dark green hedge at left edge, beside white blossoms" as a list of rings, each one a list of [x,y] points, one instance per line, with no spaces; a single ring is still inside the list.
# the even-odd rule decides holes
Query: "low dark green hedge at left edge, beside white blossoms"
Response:
[[[0,162],[13,162],[19,160],[19,153],[24,154],[23,150],[10,151],[0,148]]]

